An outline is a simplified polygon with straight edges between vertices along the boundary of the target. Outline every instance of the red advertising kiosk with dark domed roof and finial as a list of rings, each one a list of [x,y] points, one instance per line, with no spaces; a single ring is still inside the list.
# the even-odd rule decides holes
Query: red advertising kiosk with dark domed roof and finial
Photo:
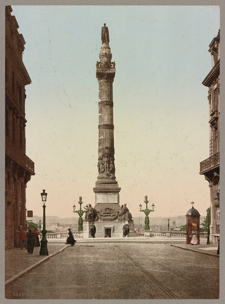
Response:
[[[198,210],[196,210],[193,207],[194,202],[191,202],[192,208],[188,210],[186,214],[186,225],[187,225],[187,235],[186,235],[186,244],[191,243],[192,239],[192,234],[194,232],[197,233],[197,238],[198,238],[198,245],[200,244],[199,241],[199,222],[200,222],[200,214]]]

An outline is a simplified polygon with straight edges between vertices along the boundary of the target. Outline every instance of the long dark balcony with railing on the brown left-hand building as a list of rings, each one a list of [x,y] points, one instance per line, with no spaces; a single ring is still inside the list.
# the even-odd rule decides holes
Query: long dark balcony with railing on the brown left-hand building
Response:
[[[7,136],[5,136],[5,154],[25,168],[31,175],[34,175],[34,162],[23,153]]]

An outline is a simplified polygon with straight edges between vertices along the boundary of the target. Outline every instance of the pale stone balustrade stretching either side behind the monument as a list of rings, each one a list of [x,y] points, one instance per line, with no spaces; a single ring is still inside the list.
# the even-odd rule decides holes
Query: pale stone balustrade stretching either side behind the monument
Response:
[[[144,232],[144,231],[143,231]],[[207,232],[200,232],[199,237],[200,239],[206,239],[208,233]],[[58,232],[58,233],[47,233],[47,239],[66,239],[68,237],[68,232]],[[73,232],[73,237],[76,238],[83,238],[83,231]],[[144,237],[144,233],[137,234],[137,237]],[[151,231],[150,230],[150,237],[183,237],[186,238],[186,234],[180,231]],[[40,233],[40,239],[42,238],[42,234]]]

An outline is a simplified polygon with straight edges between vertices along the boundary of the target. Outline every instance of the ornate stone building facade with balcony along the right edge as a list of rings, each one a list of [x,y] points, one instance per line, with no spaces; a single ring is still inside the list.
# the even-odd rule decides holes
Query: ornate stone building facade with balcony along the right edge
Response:
[[[210,242],[215,244],[220,234],[220,30],[209,44],[209,52],[212,67],[202,81],[209,89],[209,158],[200,163],[200,174],[209,182]]]

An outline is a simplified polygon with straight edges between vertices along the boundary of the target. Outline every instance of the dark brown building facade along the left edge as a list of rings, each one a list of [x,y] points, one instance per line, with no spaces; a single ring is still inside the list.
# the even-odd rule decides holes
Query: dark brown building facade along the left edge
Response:
[[[34,163],[26,156],[25,85],[31,83],[22,61],[25,40],[10,5],[5,7],[5,245],[15,245],[26,225],[26,184]]]

